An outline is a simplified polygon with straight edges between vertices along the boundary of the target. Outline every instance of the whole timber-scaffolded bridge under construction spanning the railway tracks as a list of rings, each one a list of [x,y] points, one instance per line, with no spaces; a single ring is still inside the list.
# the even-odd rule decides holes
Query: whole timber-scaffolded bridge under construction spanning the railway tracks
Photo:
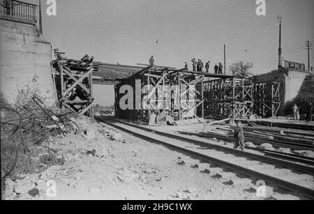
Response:
[[[93,113],[93,84],[114,85],[115,114],[121,119],[142,123],[171,124],[203,119],[251,119],[253,116],[270,117],[283,114],[289,75],[308,75],[301,70],[285,69],[269,74],[245,78],[239,75],[218,75],[193,72],[168,66],[116,65],[110,63],[62,59],[57,61],[54,82],[59,104],[79,114]],[[136,85],[140,82],[140,85]],[[129,91],[123,86],[129,86]],[[149,86],[149,90],[144,90]],[[173,88],[158,97],[160,87]],[[193,93],[188,89],[194,87]],[[140,95],[135,91],[140,89]],[[80,91],[86,95],[80,95]],[[131,95],[130,95],[131,93]],[[129,95],[129,99],[122,99]],[[137,108],[136,100],[141,106]],[[142,100],[145,100],[142,103]],[[175,102],[179,100],[179,105]],[[132,102],[132,103],[130,103]],[[161,103],[163,107],[154,109]],[[167,103],[167,105],[166,105]],[[121,105],[128,108],[121,108]]]

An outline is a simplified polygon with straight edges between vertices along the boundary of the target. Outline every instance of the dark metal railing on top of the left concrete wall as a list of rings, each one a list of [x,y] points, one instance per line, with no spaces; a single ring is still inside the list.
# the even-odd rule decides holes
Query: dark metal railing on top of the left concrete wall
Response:
[[[28,20],[37,21],[36,4],[15,0],[0,0],[0,14],[23,17]]]

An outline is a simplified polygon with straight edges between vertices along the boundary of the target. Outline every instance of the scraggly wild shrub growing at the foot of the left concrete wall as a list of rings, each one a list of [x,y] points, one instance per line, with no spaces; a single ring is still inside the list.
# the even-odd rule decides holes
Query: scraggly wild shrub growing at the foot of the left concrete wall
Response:
[[[35,173],[43,165],[39,157],[47,153],[47,148],[38,146],[46,137],[40,119],[24,120],[23,128],[19,126],[21,116],[22,119],[43,116],[43,111],[33,102],[34,96],[43,101],[45,108],[53,109],[47,106],[49,98],[40,91],[37,79],[33,77],[31,84],[17,90],[13,105],[9,105],[1,94],[1,176],[5,176],[15,164],[16,150],[19,155],[11,176]]]

